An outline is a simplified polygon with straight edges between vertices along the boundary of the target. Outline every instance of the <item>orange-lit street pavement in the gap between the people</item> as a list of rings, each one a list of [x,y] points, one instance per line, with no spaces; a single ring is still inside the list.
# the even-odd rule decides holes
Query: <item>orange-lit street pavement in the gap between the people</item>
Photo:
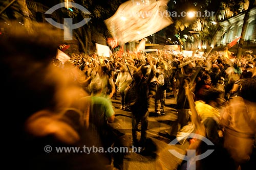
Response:
[[[185,154],[188,143],[184,145],[169,145],[171,141],[166,134],[172,129],[172,123],[177,119],[177,112],[174,106],[176,102],[172,95],[166,95],[165,114],[158,116],[155,112],[154,99],[151,99],[150,116],[148,117],[147,150],[142,153],[133,153],[132,148],[124,158],[124,170],[132,169],[170,169],[175,170],[182,162],[181,159],[172,155],[168,150],[175,150]],[[120,109],[121,100],[118,95],[112,100],[116,113],[116,120],[113,127],[125,134],[123,140],[127,145],[132,145],[132,113]],[[139,137],[139,134],[138,134]]]

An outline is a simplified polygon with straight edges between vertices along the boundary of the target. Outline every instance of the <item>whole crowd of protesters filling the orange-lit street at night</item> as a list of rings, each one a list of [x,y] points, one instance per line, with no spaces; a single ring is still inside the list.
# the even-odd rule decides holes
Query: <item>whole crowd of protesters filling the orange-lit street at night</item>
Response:
[[[114,159],[113,166],[123,169],[123,153],[46,153],[42,148],[123,147],[111,127],[111,99],[120,94],[120,109],[132,112],[132,144],[144,150],[150,99],[155,98],[155,113],[161,116],[167,91],[174,93],[178,111],[170,138],[193,125],[193,132],[227,151],[226,169],[246,169],[255,148],[255,55],[237,58],[213,51],[197,58],[160,50],[113,53],[109,58],[73,54],[62,62],[56,59],[59,42],[54,37],[59,33],[33,27],[36,33],[17,26],[0,39],[2,104],[8,111],[5,145],[12,153],[8,159],[18,161],[9,167],[106,169]],[[172,85],[167,89],[165,75]],[[191,140],[190,148],[205,151],[198,140]],[[198,169],[214,169],[207,163],[201,161]]]

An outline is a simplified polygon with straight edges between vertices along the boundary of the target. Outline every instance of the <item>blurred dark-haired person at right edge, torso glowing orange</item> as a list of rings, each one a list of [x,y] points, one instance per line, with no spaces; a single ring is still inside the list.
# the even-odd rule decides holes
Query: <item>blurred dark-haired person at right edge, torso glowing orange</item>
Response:
[[[230,98],[223,111],[221,124],[224,127],[224,148],[236,162],[236,169],[248,169],[245,167],[248,163],[255,163],[255,95],[256,81],[248,79],[241,83],[240,95]],[[251,157],[253,154],[254,160]]]

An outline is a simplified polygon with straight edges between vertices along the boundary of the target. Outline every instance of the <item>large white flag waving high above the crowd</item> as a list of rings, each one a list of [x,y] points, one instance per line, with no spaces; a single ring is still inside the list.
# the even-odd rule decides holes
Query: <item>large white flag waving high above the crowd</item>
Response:
[[[119,44],[139,41],[173,23],[167,11],[168,0],[147,2],[127,1],[119,6],[113,16],[104,20]]]

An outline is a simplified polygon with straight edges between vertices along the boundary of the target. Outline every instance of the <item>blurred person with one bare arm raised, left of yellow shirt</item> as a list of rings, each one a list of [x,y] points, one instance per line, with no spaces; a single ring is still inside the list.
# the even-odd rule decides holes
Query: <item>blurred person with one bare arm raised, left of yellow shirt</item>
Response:
[[[234,161],[222,144],[215,144],[208,140],[210,127],[201,121],[200,113],[196,109],[193,90],[189,82],[184,82],[185,95],[191,110],[191,123],[194,124],[194,133],[188,136],[187,159],[183,159],[178,170],[234,170]],[[190,152],[190,153],[189,153]],[[193,152],[193,154],[192,154]],[[208,153],[206,153],[208,152]]]

